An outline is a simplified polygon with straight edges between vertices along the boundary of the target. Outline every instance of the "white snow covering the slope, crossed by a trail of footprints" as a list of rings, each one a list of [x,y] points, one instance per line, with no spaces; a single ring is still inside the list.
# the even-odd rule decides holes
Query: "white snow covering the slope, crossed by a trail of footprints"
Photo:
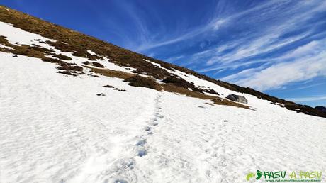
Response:
[[[0,26],[11,42],[39,36]],[[78,65],[86,60],[62,54]],[[326,170],[325,118],[248,94],[254,110],[113,77],[68,77],[33,57],[0,52],[0,60],[0,182],[247,182],[257,169]],[[223,96],[235,93],[175,74]]]

